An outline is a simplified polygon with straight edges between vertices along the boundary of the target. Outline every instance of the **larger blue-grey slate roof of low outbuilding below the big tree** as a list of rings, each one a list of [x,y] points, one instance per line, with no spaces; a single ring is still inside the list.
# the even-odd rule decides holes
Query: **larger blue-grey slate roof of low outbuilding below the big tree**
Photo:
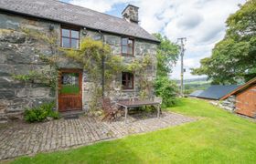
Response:
[[[208,99],[216,99],[219,100],[221,97],[229,94],[236,88],[240,86],[237,85],[229,85],[229,86],[222,86],[222,85],[213,85],[208,87],[205,91],[200,93],[197,97],[208,98]]]

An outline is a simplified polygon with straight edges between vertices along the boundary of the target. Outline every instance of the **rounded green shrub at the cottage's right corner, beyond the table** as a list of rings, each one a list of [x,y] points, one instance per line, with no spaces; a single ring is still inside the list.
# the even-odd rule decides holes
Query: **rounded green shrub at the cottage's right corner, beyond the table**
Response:
[[[158,77],[155,80],[155,94],[163,98],[162,107],[170,107],[176,103],[177,86],[168,77]]]

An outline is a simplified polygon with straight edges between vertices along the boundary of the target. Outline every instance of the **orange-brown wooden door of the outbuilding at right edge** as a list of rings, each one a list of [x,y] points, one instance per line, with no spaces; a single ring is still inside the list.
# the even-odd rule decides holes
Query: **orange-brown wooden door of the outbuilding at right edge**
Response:
[[[236,112],[249,117],[256,116],[256,85],[247,88],[236,97]]]

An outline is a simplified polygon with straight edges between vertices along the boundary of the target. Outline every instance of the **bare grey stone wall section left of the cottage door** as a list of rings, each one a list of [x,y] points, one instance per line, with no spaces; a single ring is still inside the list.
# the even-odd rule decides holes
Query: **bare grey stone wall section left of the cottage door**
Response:
[[[49,66],[39,59],[40,52],[50,55],[48,45],[27,36],[21,28],[48,33],[48,26],[58,24],[0,14],[0,121],[16,118],[25,108],[55,99],[55,93],[46,85],[25,83],[13,78],[27,75],[32,70],[43,71]]]

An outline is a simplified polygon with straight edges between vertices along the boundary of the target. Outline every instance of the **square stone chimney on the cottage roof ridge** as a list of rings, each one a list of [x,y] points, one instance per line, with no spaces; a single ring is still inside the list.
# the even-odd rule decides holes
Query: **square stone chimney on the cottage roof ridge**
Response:
[[[138,24],[139,23],[138,11],[139,11],[139,7],[135,5],[127,5],[122,12],[123,18],[128,22]]]

